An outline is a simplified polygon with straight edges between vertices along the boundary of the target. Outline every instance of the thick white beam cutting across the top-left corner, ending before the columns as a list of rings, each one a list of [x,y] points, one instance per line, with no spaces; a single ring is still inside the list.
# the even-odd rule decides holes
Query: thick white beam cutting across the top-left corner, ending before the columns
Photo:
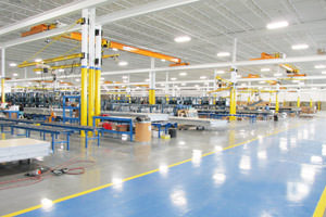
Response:
[[[28,18],[25,18],[23,21],[16,22],[14,24],[10,24],[8,26],[4,26],[0,28],[0,36],[9,34],[11,31],[18,30],[21,28],[25,28],[28,26],[33,26],[36,24],[43,23],[46,21],[50,21],[53,18],[58,18],[63,15],[67,15],[74,12],[77,12],[82,9],[92,8],[100,3],[109,3],[113,0],[83,0],[83,1],[73,1],[71,3],[54,8],[52,10],[46,11],[43,13],[37,14],[35,16],[30,16]]]

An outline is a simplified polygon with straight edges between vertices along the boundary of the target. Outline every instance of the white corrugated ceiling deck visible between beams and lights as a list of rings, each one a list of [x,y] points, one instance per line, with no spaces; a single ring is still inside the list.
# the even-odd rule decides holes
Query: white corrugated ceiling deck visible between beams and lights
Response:
[[[115,0],[97,8],[97,15],[105,15],[118,10],[146,4],[153,0]],[[53,8],[70,3],[72,0],[2,0],[0,1],[0,27],[22,21]],[[259,58],[261,52],[286,53],[287,56],[313,55],[317,49],[326,49],[326,1],[325,0],[200,0],[198,2],[163,10],[148,15],[126,18],[103,26],[104,36],[118,42],[147,48],[180,58],[190,64],[229,61],[230,58],[217,58],[220,51],[233,51],[234,38],[238,39],[238,60]],[[72,24],[80,16],[80,12],[58,18],[62,23]],[[267,30],[266,24],[274,21],[288,21],[289,27]],[[49,21],[51,22],[51,21]],[[21,29],[1,36],[0,42],[20,38],[20,34],[28,30]],[[187,43],[176,43],[176,36],[187,35],[192,38]],[[308,43],[304,51],[293,51],[292,44]],[[30,59],[45,47],[45,40],[29,42],[7,49],[7,77],[17,73],[17,78],[24,78],[25,71],[9,67],[11,62],[21,63]],[[72,41],[55,41],[37,58],[47,59],[62,55],[76,47]],[[76,52],[78,49],[76,50]],[[114,53],[106,50],[105,53]],[[103,71],[148,68],[150,60],[147,56],[117,52],[120,60],[127,61],[126,67],[120,67],[113,60],[104,60]],[[156,66],[167,66],[168,63],[155,62]],[[315,64],[296,64],[302,73],[321,75]],[[326,64],[326,63],[324,63]],[[271,66],[272,72],[263,73],[271,77],[277,66]],[[225,68],[227,69],[227,68]],[[325,69],[326,71],[326,69]],[[260,67],[240,67],[241,75],[260,73]],[[185,77],[178,72],[170,77],[178,80],[196,80],[205,75],[213,78],[212,71],[191,71]],[[27,68],[27,77],[38,77],[33,68]],[[224,77],[229,77],[225,74]],[[130,81],[143,81],[148,74],[133,74]],[[106,76],[106,80],[122,81],[121,75]],[[74,81],[74,79],[67,79]],[[165,74],[158,74],[156,80],[165,80]],[[310,82],[325,82],[314,80]]]

